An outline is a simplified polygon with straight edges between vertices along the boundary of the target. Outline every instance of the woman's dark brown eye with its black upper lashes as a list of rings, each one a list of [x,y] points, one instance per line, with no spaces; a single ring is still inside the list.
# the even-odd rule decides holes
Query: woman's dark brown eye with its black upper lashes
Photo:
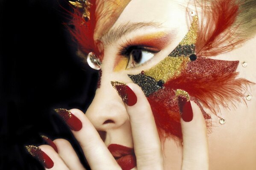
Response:
[[[119,54],[128,58],[127,68],[136,68],[148,60],[150,60],[160,50],[153,47],[146,47],[141,45],[131,45],[123,47]]]

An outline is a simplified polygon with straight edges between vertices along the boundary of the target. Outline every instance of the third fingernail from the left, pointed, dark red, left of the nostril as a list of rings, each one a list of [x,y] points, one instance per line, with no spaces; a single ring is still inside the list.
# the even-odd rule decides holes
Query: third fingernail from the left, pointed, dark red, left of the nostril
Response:
[[[67,109],[54,109],[56,113],[58,113],[62,118],[65,120],[65,122],[68,124],[68,126],[71,128],[71,130],[79,131],[82,129],[82,122],[69,110]]]

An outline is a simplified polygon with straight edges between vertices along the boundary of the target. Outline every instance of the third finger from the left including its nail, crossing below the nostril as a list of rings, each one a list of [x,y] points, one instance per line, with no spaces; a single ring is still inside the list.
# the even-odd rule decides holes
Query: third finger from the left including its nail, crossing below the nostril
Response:
[[[71,109],[70,111],[56,109],[56,112],[71,127],[71,132],[79,142],[91,169],[120,170],[119,165],[100,138],[99,133],[82,111],[78,109]]]

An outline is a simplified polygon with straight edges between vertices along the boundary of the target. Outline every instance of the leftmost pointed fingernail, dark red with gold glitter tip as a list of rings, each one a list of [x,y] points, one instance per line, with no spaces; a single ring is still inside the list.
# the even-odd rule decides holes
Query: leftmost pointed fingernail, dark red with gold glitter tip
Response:
[[[50,159],[50,157],[46,153],[44,153],[39,147],[36,147],[34,145],[28,145],[25,147],[30,155],[38,159],[38,161],[40,161],[44,165],[44,167],[48,169],[53,167],[53,160]]]

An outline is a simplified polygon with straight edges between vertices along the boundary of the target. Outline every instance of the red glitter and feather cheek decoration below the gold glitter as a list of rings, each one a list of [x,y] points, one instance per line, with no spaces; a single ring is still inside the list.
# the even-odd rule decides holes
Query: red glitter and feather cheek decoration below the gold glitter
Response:
[[[229,102],[240,102],[244,99],[242,91],[252,82],[236,79],[237,66],[238,61],[198,57],[197,60],[188,62],[179,77],[166,82],[165,88],[148,96],[161,139],[168,136],[182,139],[179,107],[175,96],[177,89],[188,92],[191,100],[200,107],[208,131],[211,130],[211,117],[203,110],[199,101],[216,114],[219,105],[228,107]]]

